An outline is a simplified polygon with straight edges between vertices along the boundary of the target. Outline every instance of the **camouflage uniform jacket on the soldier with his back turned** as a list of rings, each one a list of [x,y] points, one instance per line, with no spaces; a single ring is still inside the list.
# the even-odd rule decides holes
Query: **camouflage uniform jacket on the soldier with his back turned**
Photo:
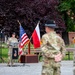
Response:
[[[54,58],[60,52],[64,57],[66,51],[63,39],[54,31],[42,36],[41,49],[44,58]]]

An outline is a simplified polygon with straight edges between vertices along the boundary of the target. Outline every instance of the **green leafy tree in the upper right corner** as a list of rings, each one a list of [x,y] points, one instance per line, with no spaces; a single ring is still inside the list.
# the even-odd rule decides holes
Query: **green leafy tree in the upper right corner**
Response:
[[[75,31],[75,0],[60,0],[59,10],[65,20],[67,31]]]

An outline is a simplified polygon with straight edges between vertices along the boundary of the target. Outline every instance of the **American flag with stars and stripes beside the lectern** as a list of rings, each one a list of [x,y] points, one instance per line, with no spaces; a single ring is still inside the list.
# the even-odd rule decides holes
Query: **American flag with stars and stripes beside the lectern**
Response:
[[[25,44],[27,44],[29,42],[29,38],[26,34],[26,32],[24,31],[23,27],[20,25],[20,43],[19,43],[19,55],[23,54],[23,47]]]

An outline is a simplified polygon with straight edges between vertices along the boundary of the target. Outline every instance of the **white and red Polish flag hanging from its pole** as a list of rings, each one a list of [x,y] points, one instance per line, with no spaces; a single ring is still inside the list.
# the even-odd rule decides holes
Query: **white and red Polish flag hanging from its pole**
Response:
[[[34,48],[40,47],[40,29],[39,29],[39,23],[37,24],[33,34],[32,34],[32,39],[33,39],[33,45]]]

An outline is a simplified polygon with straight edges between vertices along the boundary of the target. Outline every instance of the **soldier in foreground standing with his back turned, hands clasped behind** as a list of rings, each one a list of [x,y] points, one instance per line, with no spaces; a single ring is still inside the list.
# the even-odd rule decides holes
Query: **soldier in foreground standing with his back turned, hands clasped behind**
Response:
[[[45,24],[46,34],[42,36],[41,50],[43,53],[42,75],[60,75],[60,61],[65,56],[63,39],[56,34],[57,28],[53,20]]]

